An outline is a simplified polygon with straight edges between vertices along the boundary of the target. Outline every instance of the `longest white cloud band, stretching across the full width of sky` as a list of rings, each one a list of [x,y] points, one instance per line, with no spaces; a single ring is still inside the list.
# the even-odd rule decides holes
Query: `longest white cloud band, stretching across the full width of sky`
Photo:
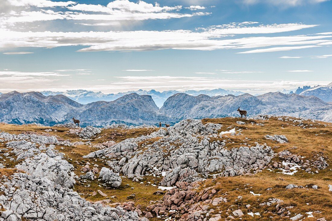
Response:
[[[312,25],[284,24],[274,25],[273,32],[304,29]],[[219,30],[220,29],[220,30]],[[256,49],[240,53],[292,50],[317,47],[318,43],[328,42],[324,38],[332,36],[285,36],[285,37],[245,37],[223,39],[222,28],[204,32],[176,31],[123,31],[123,32],[16,32],[0,29],[0,47],[59,47],[71,45],[87,46],[79,51],[122,51],[122,50],[159,50],[194,49],[215,50],[231,48],[257,48],[278,45],[301,45],[293,47],[274,47]],[[240,28],[228,28],[228,34],[236,34]],[[270,33],[271,26],[256,27],[253,32],[242,29],[243,33]]]

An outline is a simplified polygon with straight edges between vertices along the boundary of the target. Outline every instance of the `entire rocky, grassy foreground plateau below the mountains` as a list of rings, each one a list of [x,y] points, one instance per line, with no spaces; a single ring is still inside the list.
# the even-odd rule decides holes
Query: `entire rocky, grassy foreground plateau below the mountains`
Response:
[[[332,220],[332,126],[0,124],[1,220]]]

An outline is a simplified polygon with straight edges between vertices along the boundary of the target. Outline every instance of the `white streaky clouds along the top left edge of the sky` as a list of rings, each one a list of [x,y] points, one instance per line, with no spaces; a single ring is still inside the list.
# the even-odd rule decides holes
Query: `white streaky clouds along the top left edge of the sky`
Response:
[[[51,21],[51,20],[91,20],[97,23],[80,23],[82,25],[107,26],[114,25],[105,21],[129,21],[148,19],[171,19],[208,15],[209,13],[181,13],[181,5],[163,6],[158,3],[149,4],[144,1],[130,2],[128,0],[115,0],[107,6],[94,4],[76,4],[73,1],[53,2],[49,0],[2,0],[14,6],[26,6],[28,11],[11,11],[3,13],[0,17],[0,27],[17,27],[17,23]],[[36,8],[37,7],[37,8]],[[62,7],[61,10],[43,10],[44,7]],[[69,11],[64,11],[66,7]],[[171,12],[175,11],[175,12]],[[78,23],[79,24],[79,23]]]

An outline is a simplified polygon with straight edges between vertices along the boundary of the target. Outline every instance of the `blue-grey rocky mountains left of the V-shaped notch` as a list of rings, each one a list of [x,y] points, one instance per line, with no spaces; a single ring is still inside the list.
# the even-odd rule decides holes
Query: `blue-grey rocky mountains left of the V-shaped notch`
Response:
[[[79,104],[64,95],[44,96],[39,92],[0,95],[0,121],[8,123],[37,122],[53,125],[81,120],[82,125],[109,125],[159,123],[170,118],[157,113],[159,108],[149,95],[129,94],[115,101],[99,101],[87,105]]]

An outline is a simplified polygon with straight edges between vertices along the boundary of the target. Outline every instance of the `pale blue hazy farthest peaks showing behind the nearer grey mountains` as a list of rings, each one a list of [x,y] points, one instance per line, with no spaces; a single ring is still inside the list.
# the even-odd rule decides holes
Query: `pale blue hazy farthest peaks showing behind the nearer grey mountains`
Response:
[[[153,101],[157,105],[157,107],[161,108],[166,101],[167,98],[171,97],[174,94],[180,93],[179,91],[164,91],[159,92],[155,90],[145,91],[145,90],[138,90],[138,91],[128,91],[123,93],[117,93],[117,94],[104,94],[102,92],[93,92],[93,91],[86,91],[86,90],[73,90],[73,91],[65,91],[65,92],[52,92],[52,91],[42,91],[41,92],[45,96],[49,95],[59,95],[62,94],[64,96],[67,96],[68,98],[81,103],[81,104],[88,104],[91,102],[96,101],[114,101],[124,95],[136,93],[138,95],[151,95]],[[201,91],[185,91],[183,93],[197,96],[200,94],[206,94],[208,96],[224,96],[224,95],[241,95],[244,94],[241,91],[230,91],[230,90],[224,90],[221,88],[213,89],[213,90],[201,90]]]

